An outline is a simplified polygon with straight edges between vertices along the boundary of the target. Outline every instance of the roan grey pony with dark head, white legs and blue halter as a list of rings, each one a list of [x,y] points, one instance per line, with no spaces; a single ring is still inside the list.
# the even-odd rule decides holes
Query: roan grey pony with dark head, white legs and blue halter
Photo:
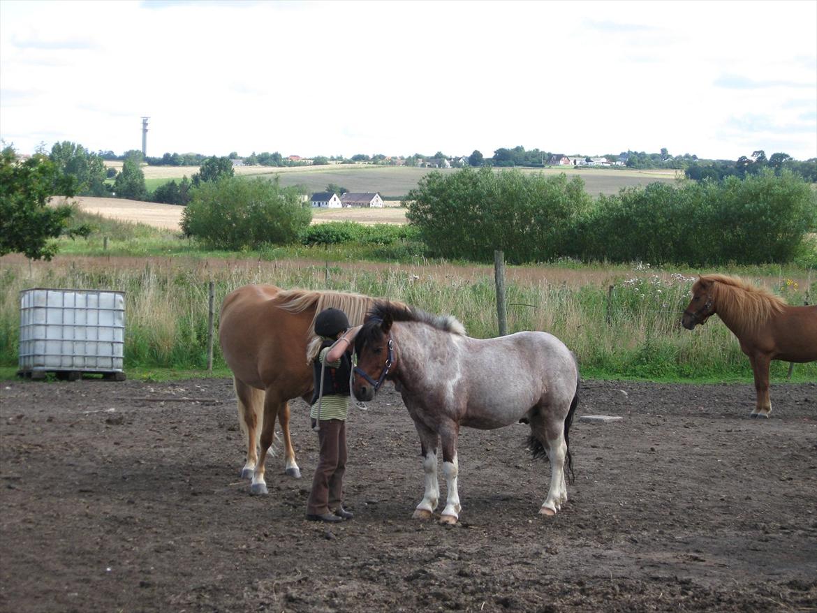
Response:
[[[355,338],[358,365],[352,392],[371,400],[386,378],[395,381],[420,436],[426,491],[414,511],[431,517],[440,499],[437,444],[442,442],[448,499],[440,521],[456,523],[460,426],[482,430],[528,423],[529,449],[551,461],[551,483],[539,512],[555,515],[567,501],[565,458],[578,405],[578,366],[555,336],[519,332],[480,340],[451,316],[375,302]]]

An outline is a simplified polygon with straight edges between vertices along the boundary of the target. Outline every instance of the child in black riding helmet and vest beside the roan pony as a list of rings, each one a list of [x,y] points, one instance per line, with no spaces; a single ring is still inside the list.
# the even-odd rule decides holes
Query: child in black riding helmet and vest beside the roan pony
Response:
[[[307,356],[314,373],[310,418],[312,427],[318,429],[320,459],[306,503],[306,519],[310,521],[336,522],[353,517],[342,503],[351,354],[359,329],[349,329],[346,313],[340,309],[325,309],[315,318],[316,336]]]

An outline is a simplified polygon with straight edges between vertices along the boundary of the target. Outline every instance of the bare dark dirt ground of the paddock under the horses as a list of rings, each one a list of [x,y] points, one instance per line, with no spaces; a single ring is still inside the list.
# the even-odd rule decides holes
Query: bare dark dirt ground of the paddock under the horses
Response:
[[[583,383],[552,518],[528,428],[464,428],[442,526],[411,519],[419,444],[389,385],[350,414],[355,519],[327,527],[304,517],[300,400],[304,478],[279,454],[254,497],[229,379],[0,382],[0,611],[815,611],[817,384],[771,394],[760,421],[748,384]]]

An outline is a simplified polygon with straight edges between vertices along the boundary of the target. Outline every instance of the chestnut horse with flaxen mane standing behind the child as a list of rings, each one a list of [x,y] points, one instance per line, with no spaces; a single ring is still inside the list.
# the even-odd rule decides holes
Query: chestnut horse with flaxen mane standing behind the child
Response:
[[[286,447],[286,473],[301,478],[289,435],[289,400],[299,396],[311,400],[312,368],[306,346],[315,333],[315,315],[336,307],[354,326],[363,323],[372,302],[373,298],[358,293],[285,290],[275,285],[244,285],[225,297],[218,335],[221,352],[233,371],[239,425],[247,436],[247,462],[241,477],[252,479],[252,494],[267,493],[264,461],[272,445],[276,416]]]

